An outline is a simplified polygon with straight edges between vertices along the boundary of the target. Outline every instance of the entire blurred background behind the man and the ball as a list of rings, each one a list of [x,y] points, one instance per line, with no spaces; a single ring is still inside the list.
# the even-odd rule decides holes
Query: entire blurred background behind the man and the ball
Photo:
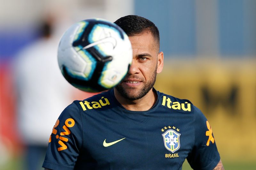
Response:
[[[64,31],[86,18],[114,22],[129,14],[148,18],[159,28],[164,70],[155,88],[203,111],[225,169],[256,169],[255,0],[0,4],[1,169],[40,167],[58,115],[73,100],[92,95],[62,78],[57,47]],[[183,169],[191,168],[185,162]]]

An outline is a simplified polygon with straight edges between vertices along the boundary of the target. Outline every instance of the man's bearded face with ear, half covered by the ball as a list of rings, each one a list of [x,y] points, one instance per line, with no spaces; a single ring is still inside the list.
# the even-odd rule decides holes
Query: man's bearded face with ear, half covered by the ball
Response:
[[[124,98],[138,100],[152,89],[156,73],[162,71],[163,53],[158,54],[156,42],[150,32],[130,36],[129,39],[133,50],[132,65],[116,89]]]

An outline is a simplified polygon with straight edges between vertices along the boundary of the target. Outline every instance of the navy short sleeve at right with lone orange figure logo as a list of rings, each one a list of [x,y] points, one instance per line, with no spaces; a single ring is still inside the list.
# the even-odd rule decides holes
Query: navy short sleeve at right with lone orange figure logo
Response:
[[[195,107],[194,117],[195,144],[187,160],[193,169],[212,170],[220,161],[212,128],[203,115]]]

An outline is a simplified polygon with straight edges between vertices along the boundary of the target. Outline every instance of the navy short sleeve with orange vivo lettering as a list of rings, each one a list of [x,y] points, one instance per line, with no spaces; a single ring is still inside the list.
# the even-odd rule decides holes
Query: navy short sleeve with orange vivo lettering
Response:
[[[82,145],[81,115],[75,103],[60,114],[49,139],[43,167],[49,169],[74,169]]]

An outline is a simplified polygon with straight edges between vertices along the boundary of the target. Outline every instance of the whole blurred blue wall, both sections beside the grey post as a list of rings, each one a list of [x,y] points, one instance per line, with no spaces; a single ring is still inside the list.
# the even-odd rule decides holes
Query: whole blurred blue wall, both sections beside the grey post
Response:
[[[159,28],[160,50],[166,57],[197,55],[195,0],[134,0],[134,9],[136,15],[148,18]],[[255,57],[256,1],[218,0],[215,11],[219,31],[216,54]]]

